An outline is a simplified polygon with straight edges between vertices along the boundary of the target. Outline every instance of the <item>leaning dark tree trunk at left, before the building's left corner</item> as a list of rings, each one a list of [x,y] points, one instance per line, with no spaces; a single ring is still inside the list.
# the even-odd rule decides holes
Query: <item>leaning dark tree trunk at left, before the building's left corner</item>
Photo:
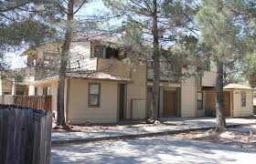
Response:
[[[68,14],[67,14],[67,25],[64,43],[62,46],[62,51],[60,54],[60,67],[59,67],[59,80],[58,80],[58,98],[57,98],[57,125],[66,127],[65,115],[64,115],[64,90],[65,90],[65,78],[67,71],[67,63],[69,58],[69,46],[71,42],[72,29],[70,21],[73,20],[73,9],[74,9],[74,0],[69,0],[68,5]]]

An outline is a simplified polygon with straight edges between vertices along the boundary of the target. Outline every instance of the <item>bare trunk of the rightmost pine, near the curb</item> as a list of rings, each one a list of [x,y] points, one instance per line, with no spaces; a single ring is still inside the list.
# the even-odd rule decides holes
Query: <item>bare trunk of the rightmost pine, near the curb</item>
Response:
[[[221,132],[226,130],[226,120],[224,116],[224,96],[223,96],[223,62],[217,62],[217,77],[216,77],[216,129]]]

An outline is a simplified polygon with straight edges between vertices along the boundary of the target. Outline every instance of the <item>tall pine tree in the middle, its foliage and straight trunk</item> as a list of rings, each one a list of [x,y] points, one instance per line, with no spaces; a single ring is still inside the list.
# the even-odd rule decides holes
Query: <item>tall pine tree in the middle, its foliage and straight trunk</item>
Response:
[[[123,46],[142,61],[153,60],[153,111],[158,118],[160,62],[163,46],[171,46],[190,34],[195,8],[183,1],[105,0],[123,21]]]

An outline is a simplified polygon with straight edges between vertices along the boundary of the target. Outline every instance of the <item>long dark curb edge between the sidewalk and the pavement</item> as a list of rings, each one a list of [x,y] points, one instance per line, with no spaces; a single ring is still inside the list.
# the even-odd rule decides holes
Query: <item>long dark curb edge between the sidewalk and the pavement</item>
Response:
[[[249,126],[249,125],[255,125],[255,124],[256,123],[235,124],[235,125],[228,125],[227,128],[237,128],[237,127],[243,127],[243,126]],[[53,140],[51,141],[51,146],[59,147],[59,146],[70,145],[70,144],[80,144],[80,143],[96,142],[96,141],[103,141],[103,140],[121,140],[121,139],[131,139],[131,138],[165,136],[165,135],[172,135],[172,134],[178,134],[178,133],[187,133],[190,131],[208,130],[211,128],[216,128],[216,127],[212,126],[212,127],[206,127],[206,128],[187,128],[187,129],[180,129],[180,130],[161,131],[161,132],[155,132],[155,133],[109,136],[109,137],[102,137],[102,138],[78,138],[78,139],[69,139],[69,140]]]

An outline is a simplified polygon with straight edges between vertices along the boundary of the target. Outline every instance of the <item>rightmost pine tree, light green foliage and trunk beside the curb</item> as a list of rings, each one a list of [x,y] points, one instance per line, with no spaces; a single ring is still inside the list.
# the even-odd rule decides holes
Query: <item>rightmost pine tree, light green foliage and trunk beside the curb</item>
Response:
[[[246,29],[249,26],[243,19],[244,16],[234,10],[241,5],[245,6],[245,1],[202,0],[196,17],[200,28],[199,43],[208,46],[211,60],[217,63],[216,131],[226,129],[223,111],[224,69],[242,58],[248,49],[244,38],[248,36]]]

